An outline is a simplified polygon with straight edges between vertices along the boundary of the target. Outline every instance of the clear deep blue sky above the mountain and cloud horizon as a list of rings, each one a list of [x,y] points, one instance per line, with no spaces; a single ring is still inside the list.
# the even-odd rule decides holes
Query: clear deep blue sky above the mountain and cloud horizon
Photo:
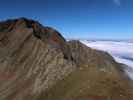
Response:
[[[133,39],[133,0],[1,0],[0,13],[0,20],[38,20],[66,38]]]

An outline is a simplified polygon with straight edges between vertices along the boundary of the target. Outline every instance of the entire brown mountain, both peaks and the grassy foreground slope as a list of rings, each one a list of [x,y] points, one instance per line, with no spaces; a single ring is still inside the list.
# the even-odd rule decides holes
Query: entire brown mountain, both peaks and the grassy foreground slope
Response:
[[[36,21],[0,23],[0,100],[132,100],[119,68],[108,53]]]

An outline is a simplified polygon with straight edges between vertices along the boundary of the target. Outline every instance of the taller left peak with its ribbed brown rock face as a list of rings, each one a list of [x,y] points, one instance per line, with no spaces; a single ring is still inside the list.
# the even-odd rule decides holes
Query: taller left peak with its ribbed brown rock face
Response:
[[[65,39],[54,29],[26,19],[1,24],[1,100],[25,100],[45,91],[76,68],[67,55]]]

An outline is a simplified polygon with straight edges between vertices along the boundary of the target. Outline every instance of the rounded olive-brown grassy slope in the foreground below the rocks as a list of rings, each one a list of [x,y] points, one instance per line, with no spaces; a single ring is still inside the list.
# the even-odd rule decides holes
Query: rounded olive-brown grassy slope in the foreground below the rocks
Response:
[[[96,99],[99,98],[99,99]],[[133,91],[123,79],[98,71],[77,69],[37,100],[132,100]]]

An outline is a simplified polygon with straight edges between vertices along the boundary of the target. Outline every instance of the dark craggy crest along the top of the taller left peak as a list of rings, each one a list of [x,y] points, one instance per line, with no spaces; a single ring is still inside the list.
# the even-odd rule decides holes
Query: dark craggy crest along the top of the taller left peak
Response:
[[[2,43],[7,41],[9,42],[11,38],[10,35],[14,36],[16,40],[18,38],[17,35],[20,36],[21,39],[27,38],[29,35],[33,35],[37,39],[40,39],[43,42],[51,45],[51,47],[60,49],[64,53],[65,58],[71,59],[64,37],[57,30],[53,29],[52,27],[43,26],[38,21],[27,18],[6,20],[0,22],[0,33],[0,40]],[[21,39],[18,39],[18,43],[21,41]]]

